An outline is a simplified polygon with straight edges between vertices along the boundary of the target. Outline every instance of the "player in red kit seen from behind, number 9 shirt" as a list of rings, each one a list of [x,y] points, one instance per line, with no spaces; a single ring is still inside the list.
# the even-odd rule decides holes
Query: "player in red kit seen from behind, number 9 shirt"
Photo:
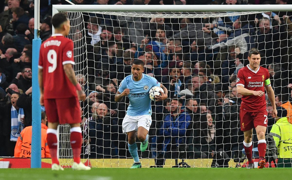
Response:
[[[65,38],[70,30],[66,13],[57,13],[52,18],[55,33],[41,44],[39,53],[40,104],[46,108],[48,117],[48,146],[52,157],[52,170],[64,170],[57,157],[57,127],[70,124],[70,142],[73,150],[74,170],[90,170],[80,162],[81,127],[79,100],[86,95],[77,82],[72,65],[73,42]],[[76,93],[77,90],[77,93]]]

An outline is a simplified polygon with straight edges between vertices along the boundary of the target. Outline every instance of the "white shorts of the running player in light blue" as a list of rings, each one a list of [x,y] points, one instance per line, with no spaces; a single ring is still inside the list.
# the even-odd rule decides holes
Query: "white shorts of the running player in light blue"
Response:
[[[149,131],[152,123],[152,118],[150,115],[141,115],[141,116],[129,116],[125,115],[122,128],[123,133],[130,131],[138,131],[138,127],[143,127]]]

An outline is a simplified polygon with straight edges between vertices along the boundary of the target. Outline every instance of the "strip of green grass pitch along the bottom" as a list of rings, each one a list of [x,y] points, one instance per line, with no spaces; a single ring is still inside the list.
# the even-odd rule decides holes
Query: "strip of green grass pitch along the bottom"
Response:
[[[290,168],[93,168],[90,171],[0,169],[1,180],[188,180],[188,179],[291,179]]]

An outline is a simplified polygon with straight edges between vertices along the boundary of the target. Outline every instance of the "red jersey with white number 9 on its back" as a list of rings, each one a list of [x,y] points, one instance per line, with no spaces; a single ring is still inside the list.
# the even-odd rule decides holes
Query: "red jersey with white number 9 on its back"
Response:
[[[65,64],[75,64],[73,42],[62,34],[53,34],[41,44],[39,52],[39,68],[43,69],[44,99],[77,97],[76,88],[63,69]]]

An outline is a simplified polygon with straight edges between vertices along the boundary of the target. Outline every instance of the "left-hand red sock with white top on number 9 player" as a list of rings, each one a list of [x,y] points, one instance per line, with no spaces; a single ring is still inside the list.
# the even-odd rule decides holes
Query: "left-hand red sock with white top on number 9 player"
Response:
[[[58,147],[58,140],[57,140],[57,130],[56,129],[47,129],[47,141],[48,146],[50,148],[50,154],[52,158],[52,164],[59,164],[59,160],[57,157],[57,147]]]

